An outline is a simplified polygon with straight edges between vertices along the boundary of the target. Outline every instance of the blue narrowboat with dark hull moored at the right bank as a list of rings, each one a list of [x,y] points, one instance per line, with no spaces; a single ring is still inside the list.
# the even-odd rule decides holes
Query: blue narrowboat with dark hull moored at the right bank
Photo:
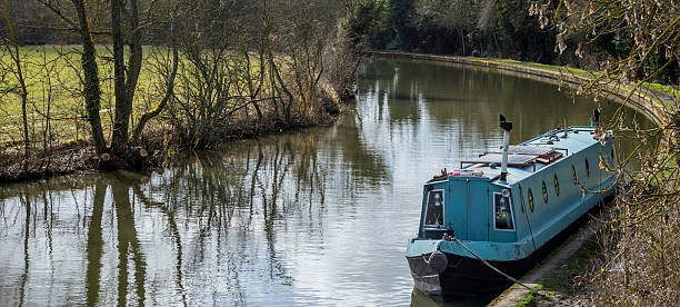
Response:
[[[416,288],[443,300],[502,290],[512,284],[503,274],[521,277],[611,196],[616,152],[598,118],[510,146],[512,123],[500,116],[501,148],[428,180],[407,248]]]

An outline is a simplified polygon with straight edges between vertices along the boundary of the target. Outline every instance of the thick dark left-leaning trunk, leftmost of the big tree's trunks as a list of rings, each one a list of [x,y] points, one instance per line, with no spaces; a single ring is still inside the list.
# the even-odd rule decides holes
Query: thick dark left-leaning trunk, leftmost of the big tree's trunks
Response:
[[[97,68],[97,50],[90,33],[90,21],[86,11],[86,0],[71,0],[78,13],[80,40],[82,43],[82,70],[84,73],[84,99],[88,112],[88,121],[92,128],[92,142],[97,155],[107,151],[107,142],[101,129],[99,117],[101,89],[99,88],[99,69]]]

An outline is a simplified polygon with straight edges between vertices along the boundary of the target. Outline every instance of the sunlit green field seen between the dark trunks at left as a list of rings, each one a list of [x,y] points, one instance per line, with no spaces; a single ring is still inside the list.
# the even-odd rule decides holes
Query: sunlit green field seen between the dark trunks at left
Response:
[[[48,110],[54,135],[77,137],[87,131],[84,99],[81,95],[80,50],[79,47],[72,46],[20,49],[21,67],[29,92],[27,113],[31,133],[42,132],[47,126]],[[20,83],[13,73],[16,67],[7,50],[2,51],[0,61],[4,78],[0,81],[0,142],[7,142],[21,139],[22,112]],[[146,48],[144,51],[147,62],[156,60],[152,56],[167,56],[162,55],[162,50]],[[97,56],[102,92],[100,116],[104,130],[110,132],[114,105],[112,52],[100,46],[97,48]],[[142,112],[160,97],[162,82],[162,78],[154,76],[149,66],[142,67],[133,106],[136,112]]]

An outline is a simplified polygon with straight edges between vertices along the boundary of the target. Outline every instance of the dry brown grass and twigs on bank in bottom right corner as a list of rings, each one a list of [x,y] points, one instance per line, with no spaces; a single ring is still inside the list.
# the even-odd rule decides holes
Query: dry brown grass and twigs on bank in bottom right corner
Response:
[[[680,300],[680,198],[632,226],[610,224],[599,236],[598,257],[582,274],[586,305],[677,306]],[[674,201],[674,202],[672,202]],[[619,201],[620,215],[626,208]],[[621,218],[621,217],[619,217]]]

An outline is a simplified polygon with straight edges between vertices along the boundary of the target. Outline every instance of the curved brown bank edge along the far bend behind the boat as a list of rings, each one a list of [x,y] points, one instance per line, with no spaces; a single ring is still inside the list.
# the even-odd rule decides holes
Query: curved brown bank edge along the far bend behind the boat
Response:
[[[590,77],[598,75],[598,72],[589,72],[576,68],[548,66],[534,62],[521,62],[509,59],[439,56],[396,51],[368,51],[367,55],[369,57],[426,60],[483,67],[501,73],[527,77],[556,83],[560,88],[562,86],[569,86],[574,91]],[[676,103],[676,98],[663,91],[663,89],[666,89],[664,87],[659,85],[642,85],[638,90],[634,90],[633,85],[620,87],[607,85],[606,89],[608,89],[609,93],[613,98],[636,109],[637,111],[642,112],[657,126],[662,127],[670,121],[668,112],[672,110],[672,107]]]

